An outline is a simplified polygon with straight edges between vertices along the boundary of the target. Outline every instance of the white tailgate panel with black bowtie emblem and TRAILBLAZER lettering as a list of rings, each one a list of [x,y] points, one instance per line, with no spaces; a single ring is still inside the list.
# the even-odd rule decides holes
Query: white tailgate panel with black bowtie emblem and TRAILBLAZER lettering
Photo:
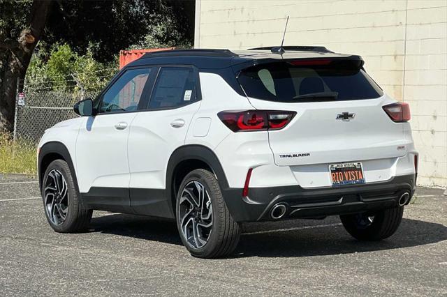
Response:
[[[250,99],[257,109],[271,102]],[[402,124],[383,112],[386,96],[340,102],[274,103],[274,109],[297,112],[282,130],[269,131],[274,162],[279,166],[310,165],[406,155]],[[340,119],[344,114],[348,120]],[[337,117],[339,119],[337,119]]]

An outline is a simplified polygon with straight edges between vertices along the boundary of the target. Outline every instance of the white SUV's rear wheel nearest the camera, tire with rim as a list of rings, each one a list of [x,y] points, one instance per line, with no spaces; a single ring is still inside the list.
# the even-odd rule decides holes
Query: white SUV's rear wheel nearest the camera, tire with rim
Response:
[[[200,200],[198,193],[202,188]],[[231,217],[214,174],[205,169],[193,170],[183,179],[177,193],[176,219],[180,238],[193,257],[225,257],[239,242],[240,225]],[[204,227],[210,222],[211,227]]]

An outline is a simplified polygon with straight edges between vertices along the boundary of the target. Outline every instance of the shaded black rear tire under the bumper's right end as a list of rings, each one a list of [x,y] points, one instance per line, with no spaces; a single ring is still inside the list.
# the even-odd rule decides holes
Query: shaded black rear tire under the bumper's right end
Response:
[[[402,222],[404,207],[387,208],[374,213],[340,215],[344,229],[359,241],[381,241],[392,236]],[[374,217],[374,218],[372,218]],[[365,223],[368,218],[372,218]]]

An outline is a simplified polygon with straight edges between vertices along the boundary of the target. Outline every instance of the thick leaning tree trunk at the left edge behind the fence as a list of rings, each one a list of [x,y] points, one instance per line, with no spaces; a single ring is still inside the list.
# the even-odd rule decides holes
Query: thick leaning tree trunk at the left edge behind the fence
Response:
[[[0,1],[0,130],[13,130],[17,78],[24,78],[51,6],[50,0]]]

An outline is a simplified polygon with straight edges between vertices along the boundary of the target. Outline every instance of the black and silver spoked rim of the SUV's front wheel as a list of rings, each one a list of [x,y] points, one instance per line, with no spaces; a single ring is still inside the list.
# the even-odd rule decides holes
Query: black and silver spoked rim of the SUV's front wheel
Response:
[[[62,224],[68,211],[68,188],[64,176],[57,169],[48,173],[43,189],[45,211],[55,225]]]

